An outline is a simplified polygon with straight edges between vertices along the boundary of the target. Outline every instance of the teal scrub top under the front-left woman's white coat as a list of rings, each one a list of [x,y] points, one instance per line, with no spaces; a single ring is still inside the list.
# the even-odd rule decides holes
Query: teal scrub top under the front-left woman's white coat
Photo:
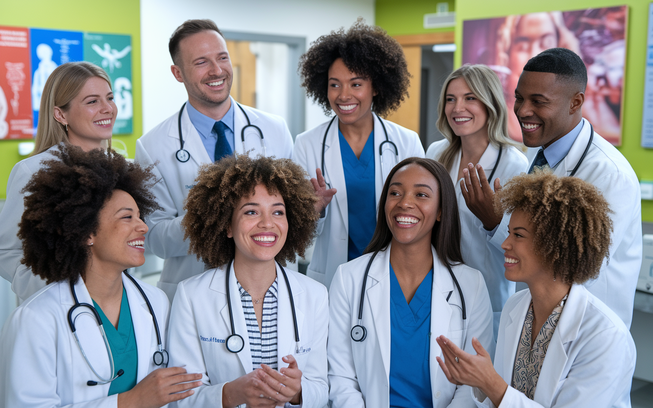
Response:
[[[129,391],[136,385],[136,374],[138,371],[138,354],[136,353],[136,336],[134,324],[131,321],[131,311],[127,301],[127,291],[123,288],[123,297],[120,302],[120,317],[118,318],[118,330],[106,318],[100,306],[93,300],[93,306],[100,315],[109,341],[111,354],[114,357],[114,371],[118,373],[123,369],[125,373],[111,382],[109,395],[120,394]],[[114,374],[115,375],[115,374]]]

